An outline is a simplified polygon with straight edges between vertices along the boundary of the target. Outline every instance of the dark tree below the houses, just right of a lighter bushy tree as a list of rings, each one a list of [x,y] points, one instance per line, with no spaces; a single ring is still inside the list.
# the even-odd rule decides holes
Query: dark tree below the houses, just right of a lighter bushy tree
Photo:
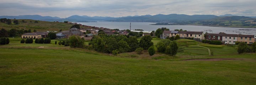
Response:
[[[178,45],[176,41],[172,41],[169,46],[166,47],[166,54],[171,56],[175,56],[178,51]]]

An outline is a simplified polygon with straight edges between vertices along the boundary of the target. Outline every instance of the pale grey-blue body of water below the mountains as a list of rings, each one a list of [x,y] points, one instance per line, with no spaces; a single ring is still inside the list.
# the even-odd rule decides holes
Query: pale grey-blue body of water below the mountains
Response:
[[[130,29],[130,22],[78,22],[86,26],[104,27],[110,29]],[[183,29],[188,31],[208,32],[208,33],[220,33],[227,34],[247,34],[256,35],[256,28],[228,28],[228,27],[209,27],[209,26],[178,26],[178,25],[149,25],[155,24],[150,22],[132,22],[132,30],[143,29],[145,31],[153,31],[158,28],[166,27],[170,30]]]

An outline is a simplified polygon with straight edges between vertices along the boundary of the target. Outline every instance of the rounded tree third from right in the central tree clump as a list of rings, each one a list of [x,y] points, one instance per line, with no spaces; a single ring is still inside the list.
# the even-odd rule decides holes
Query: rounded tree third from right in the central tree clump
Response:
[[[124,40],[120,40],[117,45],[119,53],[128,52],[130,50],[128,43]]]

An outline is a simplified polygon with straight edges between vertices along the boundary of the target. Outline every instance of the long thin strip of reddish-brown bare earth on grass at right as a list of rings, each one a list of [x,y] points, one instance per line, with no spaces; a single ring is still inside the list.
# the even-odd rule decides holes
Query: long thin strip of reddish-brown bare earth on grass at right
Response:
[[[188,59],[183,61],[224,61],[224,60],[242,60],[239,58],[206,58],[206,59]]]

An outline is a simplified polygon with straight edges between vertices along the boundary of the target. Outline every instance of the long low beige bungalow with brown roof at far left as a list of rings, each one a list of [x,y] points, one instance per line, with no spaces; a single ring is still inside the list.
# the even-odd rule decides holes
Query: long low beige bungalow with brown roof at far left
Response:
[[[47,32],[25,33],[21,35],[21,38],[46,38],[47,34]]]

